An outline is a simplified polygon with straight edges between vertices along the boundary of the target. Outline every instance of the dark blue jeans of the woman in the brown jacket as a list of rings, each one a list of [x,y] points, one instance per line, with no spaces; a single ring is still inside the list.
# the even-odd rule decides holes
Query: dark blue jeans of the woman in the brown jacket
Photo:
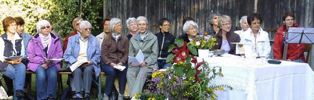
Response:
[[[127,72],[128,72],[128,66],[127,64],[124,64],[126,68],[123,71],[120,71],[118,69],[113,68],[110,65],[102,64],[101,68],[102,71],[106,74],[106,85],[105,85],[105,94],[110,95],[112,92],[112,88],[114,87],[114,80],[116,78],[116,75],[118,75],[119,80],[119,93],[124,94],[124,90],[126,88],[127,83]]]

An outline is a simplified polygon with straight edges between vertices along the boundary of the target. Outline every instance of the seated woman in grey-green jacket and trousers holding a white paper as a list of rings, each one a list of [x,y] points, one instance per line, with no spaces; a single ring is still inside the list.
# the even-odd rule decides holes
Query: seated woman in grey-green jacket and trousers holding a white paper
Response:
[[[148,20],[145,17],[138,17],[137,27],[139,32],[130,40],[129,56],[135,57],[139,50],[143,52],[144,61],[139,65],[128,61],[129,68],[127,72],[127,80],[129,81],[130,97],[134,99],[134,95],[142,93],[144,83],[150,77],[154,70],[158,70],[158,41],[157,37],[147,31]]]

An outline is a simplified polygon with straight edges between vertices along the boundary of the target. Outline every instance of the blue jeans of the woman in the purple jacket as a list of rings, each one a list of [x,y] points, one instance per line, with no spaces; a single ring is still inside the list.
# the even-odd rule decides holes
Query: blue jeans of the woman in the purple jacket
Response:
[[[36,89],[37,99],[42,100],[47,97],[56,99],[57,75],[55,66],[44,69],[39,65],[36,69]],[[46,87],[47,86],[47,87]],[[47,89],[46,89],[47,88]]]

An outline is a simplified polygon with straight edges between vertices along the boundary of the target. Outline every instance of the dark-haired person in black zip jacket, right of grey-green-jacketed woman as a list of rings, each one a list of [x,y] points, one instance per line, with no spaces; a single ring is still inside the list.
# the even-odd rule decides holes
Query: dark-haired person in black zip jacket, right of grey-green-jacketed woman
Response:
[[[166,63],[165,58],[170,54],[168,52],[169,45],[175,43],[175,36],[169,33],[169,28],[171,27],[171,22],[167,18],[162,18],[158,22],[159,24],[159,33],[156,33],[155,36],[158,40],[158,58],[164,58],[164,60],[158,59],[158,67],[159,69],[167,69],[167,67],[170,67],[170,64]]]

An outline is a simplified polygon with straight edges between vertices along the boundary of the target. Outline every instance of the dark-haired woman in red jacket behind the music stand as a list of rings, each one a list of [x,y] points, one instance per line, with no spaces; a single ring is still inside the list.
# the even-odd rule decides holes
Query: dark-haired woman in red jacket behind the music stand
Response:
[[[299,27],[298,24],[294,23],[294,15],[292,13],[285,13],[283,15],[284,25],[277,29],[275,40],[274,40],[274,58],[275,59],[284,59],[283,52],[284,52],[284,45],[286,42],[285,37],[286,34],[288,35],[289,27]],[[304,44],[297,44],[297,43],[289,43],[288,44],[288,51],[287,51],[287,59],[288,61],[294,62],[304,62]]]

